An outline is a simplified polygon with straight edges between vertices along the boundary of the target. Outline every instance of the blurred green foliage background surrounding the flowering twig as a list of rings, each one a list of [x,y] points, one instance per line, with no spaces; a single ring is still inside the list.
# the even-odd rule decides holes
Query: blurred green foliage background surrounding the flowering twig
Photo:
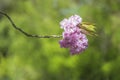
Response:
[[[120,80],[120,0],[0,0],[0,11],[31,34],[60,34],[73,14],[95,23],[98,37],[71,56],[60,39],[28,38],[0,15],[0,80]]]

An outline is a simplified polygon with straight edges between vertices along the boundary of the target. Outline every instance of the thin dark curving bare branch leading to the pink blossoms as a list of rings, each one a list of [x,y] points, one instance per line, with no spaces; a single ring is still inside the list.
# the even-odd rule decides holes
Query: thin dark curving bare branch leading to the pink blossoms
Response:
[[[15,25],[15,23],[13,22],[13,20],[10,18],[10,16],[8,16],[6,13],[0,11],[0,14],[6,16],[8,18],[8,20],[10,21],[10,23],[12,24],[13,28],[20,31],[21,33],[23,33],[27,37],[35,37],[35,38],[61,38],[62,37],[62,35],[33,35],[33,34],[29,34],[29,33],[25,32],[24,30],[22,30],[21,28],[17,27]]]

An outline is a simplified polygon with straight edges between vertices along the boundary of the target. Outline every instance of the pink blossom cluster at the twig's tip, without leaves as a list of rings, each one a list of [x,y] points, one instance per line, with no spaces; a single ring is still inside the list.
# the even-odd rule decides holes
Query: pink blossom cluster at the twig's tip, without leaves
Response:
[[[62,48],[69,48],[71,54],[79,54],[88,46],[88,39],[81,29],[77,26],[82,22],[82,18],[78,15],[73,15],[68,19],[60,22],[60,26],[64,29],[63,39],[60,40]]]

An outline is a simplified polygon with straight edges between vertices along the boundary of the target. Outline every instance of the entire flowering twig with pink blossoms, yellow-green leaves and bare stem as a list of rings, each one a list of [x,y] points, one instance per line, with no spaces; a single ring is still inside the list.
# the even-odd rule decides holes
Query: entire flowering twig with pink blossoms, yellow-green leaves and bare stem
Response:
[[[62,48],[69,48],[71,54],[79,54],[83,52],[88,47],[88,39],[86,37],[87,35],[91,36],[97,36],[95,26],[82,22],[82,18],[78,15],[73,15],[69,17],[68,19],[63,19],[60,22],[61,28],[64,30],[62,35],[35,35],[35,34],[29,34],[25,32],[23,29],[16,26],[16,24],[13,22],[11,17],[7,15],[6,13],[0,11],[1,15],[4,15],[7,17],[7,19],[12,24],[13,28],[21,32],[27,37],[32,38],[61,38],[62,40],[59,41],[60,46]]]

